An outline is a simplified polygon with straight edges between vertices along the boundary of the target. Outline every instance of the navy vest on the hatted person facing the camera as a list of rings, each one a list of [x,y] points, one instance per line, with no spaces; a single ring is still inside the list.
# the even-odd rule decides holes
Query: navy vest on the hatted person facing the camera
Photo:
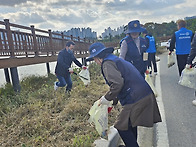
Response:
[[[147,49],[146,40],[140,37],[140,50],[137,48],[135,42],[130,36],[125,38],[125,40],[128,48],[125,60],[131,62],[140,73],[145,73],[147,63],[143,61],[143,53],[146,52]]]

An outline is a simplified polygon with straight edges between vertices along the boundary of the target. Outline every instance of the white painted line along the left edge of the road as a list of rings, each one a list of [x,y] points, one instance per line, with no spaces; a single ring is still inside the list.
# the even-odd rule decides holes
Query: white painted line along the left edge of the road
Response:
[[[160,61],[157,62],[158,71],[160,71]],[[159,72],[160,73],[160,72]],[[161,83],[160,83],[160,74],[156,76],[155,87],[158,92],[157,103],[161,113],[162,122],[157,123],[155,126],[155,135],[156,135],[156,147],[169,147],[169,139],[167,132],[167,124],[165,119],[165,110],[162,101],[162,92],[161,92]]]

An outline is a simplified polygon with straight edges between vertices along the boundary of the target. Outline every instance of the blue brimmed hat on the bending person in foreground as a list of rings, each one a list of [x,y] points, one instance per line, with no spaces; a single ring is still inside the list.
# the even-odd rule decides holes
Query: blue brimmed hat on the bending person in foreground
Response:
[[[86,59],[86,61],[92,61],[94,57],[97,57],[100,53],[113,53],[114,48],[113,47],[105,47],[102,43],[93,43],[89,47],[89,53],[90,56]]]

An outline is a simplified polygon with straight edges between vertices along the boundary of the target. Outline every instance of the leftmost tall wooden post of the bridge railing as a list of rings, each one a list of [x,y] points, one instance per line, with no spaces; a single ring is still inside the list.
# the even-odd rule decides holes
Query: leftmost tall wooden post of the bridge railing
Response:
[[[12,39],[12,32],[10,30],[10,23],[9,19],[4,19],[5,22],[5,28],[7,30],[7,39],[8,39],[8,45],[10,50],[10,56],[14,57],[14,45],[13,45],[13,39]]]

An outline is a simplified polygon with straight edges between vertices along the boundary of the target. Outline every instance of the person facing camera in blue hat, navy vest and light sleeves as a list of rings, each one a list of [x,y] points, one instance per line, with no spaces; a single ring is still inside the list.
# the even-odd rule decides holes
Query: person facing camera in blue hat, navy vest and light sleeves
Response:
[[[139,20],[130,21],[126,34],[127,37],[122,40],[119,57],[131,62],[140,74],[145,77],[147,69],[147,42],[140,37],[145,29],[141,27]]]

